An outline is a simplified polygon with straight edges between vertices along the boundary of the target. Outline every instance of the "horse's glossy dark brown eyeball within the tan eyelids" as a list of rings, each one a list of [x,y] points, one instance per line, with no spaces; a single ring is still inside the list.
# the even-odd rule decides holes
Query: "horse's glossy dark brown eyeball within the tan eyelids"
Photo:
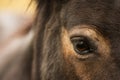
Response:
[[[84,37],[74,37],[71,39],[74,50],[80,55],[87,55],[94,52],[89,40]]]

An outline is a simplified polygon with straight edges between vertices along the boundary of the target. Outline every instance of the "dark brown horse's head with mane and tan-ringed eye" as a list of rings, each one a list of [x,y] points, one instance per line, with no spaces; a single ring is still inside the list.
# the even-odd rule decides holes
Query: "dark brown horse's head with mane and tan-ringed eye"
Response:
[[[120,80],[120,0],[37,0],[33,80]]]

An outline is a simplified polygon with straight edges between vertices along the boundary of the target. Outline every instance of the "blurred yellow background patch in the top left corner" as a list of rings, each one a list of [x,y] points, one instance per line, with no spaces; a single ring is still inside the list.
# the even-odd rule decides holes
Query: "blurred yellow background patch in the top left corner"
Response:
[[[0,0],[0,11],[11,11],[33,15],[35,0]]]

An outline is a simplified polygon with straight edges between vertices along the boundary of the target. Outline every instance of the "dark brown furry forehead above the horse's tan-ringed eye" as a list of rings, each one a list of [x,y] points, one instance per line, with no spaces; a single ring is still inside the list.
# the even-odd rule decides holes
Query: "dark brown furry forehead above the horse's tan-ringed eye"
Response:
[[[119,4],[120,0],[71,0],[65,10],[66,27],[90,24],[120,36]]]

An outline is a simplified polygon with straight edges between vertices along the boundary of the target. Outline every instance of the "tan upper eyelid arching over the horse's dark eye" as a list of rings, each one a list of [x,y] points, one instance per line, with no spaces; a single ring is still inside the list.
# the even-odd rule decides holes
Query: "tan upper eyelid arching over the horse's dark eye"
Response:
[[[70,39],[73,37],[86,37],[93,41],[99,41],[99,38],[101,37],[100,33],[89,26],[76,26],[74,29],[71,29],[69,32]]]

